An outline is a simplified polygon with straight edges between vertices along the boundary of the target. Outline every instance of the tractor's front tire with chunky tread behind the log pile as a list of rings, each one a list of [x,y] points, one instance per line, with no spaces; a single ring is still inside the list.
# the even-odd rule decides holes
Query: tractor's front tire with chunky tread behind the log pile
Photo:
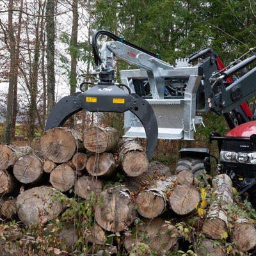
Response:
[[[209,184],[205,172],[204,159],[191,157],[181,158],[177,163],[176,173],[179,173],[182,170],[191,171],[196,179],[203,185],[207,186]]]

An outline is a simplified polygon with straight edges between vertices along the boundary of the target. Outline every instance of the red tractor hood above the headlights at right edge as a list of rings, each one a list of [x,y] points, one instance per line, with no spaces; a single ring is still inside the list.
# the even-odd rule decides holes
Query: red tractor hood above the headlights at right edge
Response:
[[[256,134],[256,121],[238,125],[229,131],[226,136],[250,138],[252,134]]]

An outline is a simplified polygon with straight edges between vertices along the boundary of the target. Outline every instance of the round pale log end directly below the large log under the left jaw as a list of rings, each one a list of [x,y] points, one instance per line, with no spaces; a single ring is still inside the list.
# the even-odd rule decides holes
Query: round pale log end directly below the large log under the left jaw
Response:
[[[50,174],[50,182],[53,188],[58,189],[61,192],[71,189],[76,180],[76,173],[66,163],[58,165]]]

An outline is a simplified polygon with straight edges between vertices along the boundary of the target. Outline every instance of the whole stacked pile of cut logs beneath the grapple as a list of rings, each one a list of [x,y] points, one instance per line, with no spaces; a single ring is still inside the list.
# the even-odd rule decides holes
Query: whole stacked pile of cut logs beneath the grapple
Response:
[[[15,240],[40,248],[42,237],[22,234],[24,225],[42,227],[47,236],[56,231],[56,244],[64,240],[65,246],[51,246],[52,255],[177,255],[188,243],[197,255],[255,250],[255,220],[233,199],[225,174],[204,188],[189,170],[173,175],[165,164],[148,162],[140,140],[120,138],[111,127],[90,127],[84,134],[49,129],[40,147],[0,145],[1,216],[3,223],[21,223],[2,228],[10,244],[0,246],[6,255],[24,252],[12,251]],[[79,204],[90,207],[81,211]]]

